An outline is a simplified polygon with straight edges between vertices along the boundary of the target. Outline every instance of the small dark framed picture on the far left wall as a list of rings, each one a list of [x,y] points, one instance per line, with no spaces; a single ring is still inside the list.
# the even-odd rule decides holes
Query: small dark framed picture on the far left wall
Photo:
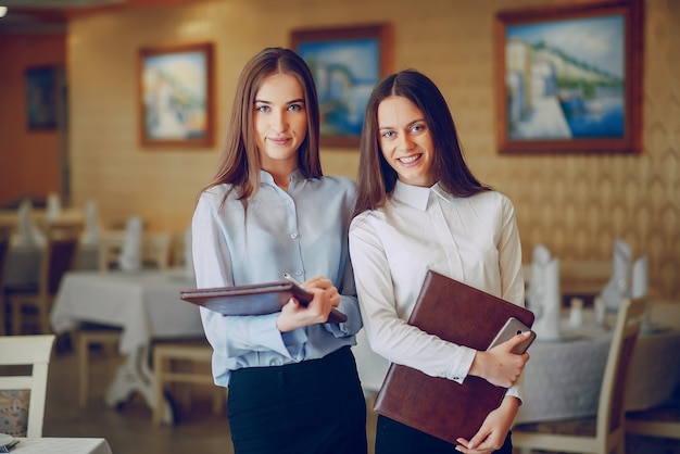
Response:
[[[59,67],[26,68],[26,124],[28,130],[56,129],[59,121]]]

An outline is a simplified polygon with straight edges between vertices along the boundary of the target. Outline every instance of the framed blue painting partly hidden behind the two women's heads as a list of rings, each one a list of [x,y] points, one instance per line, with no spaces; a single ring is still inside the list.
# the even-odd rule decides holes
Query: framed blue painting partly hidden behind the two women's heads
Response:
[[[391,26],[298,29],[291,40],[314,75],[322,146],[358,147],[370,91],[392,71]]]

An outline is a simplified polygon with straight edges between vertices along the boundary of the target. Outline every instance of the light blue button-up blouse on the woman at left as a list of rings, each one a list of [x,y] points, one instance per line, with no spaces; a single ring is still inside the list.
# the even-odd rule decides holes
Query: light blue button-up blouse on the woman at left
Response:
[[[227,386],[242,367],[277,366],[314,360],[354,345],[362,320],[348,248],[348,229],[356,185],[345,177],[306,179],[291,175],[288,192],[261,171],[261,187],[247,212],[219,185],[201,194],[192,220],[192,254],[198,288],[282,280],[322,275],[341,294],[339,310],[348,321],[281,333],[278,314],[223,316],[201,307],[205,336],[214,349],[215,383]]]

